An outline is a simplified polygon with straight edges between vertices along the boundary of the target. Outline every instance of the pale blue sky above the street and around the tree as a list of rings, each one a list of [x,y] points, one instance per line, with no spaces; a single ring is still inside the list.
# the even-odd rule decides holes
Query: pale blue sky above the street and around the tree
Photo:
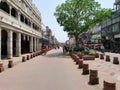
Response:
[[[99,2],[102,8],[113,8],[115,2],[115,0],[95,1]],[[65,0],[33,0],[33,3],[41,13],[42,23],[52,30],[52,35],[54,35],[59,42],[68,40],[67,33],[63,31],[63,28],[60,27],[54,16],[55,8],[64,2]]]

